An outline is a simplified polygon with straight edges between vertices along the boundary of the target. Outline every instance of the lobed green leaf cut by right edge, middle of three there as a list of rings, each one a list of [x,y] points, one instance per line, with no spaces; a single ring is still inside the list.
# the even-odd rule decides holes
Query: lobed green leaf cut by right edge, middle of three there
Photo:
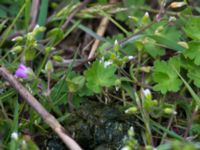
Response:
[[[190,58],[196,65],[200,65],[200,42],[192,41],[188,43],[189,49],[183,53],[186,58]]]

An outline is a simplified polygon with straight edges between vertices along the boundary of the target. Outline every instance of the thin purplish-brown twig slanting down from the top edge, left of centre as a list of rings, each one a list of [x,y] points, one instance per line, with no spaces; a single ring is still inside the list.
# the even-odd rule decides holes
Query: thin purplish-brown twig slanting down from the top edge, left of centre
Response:
[[[73,17],[81,10],[83,9],[91,0],[84,0],[84,2],[80,3],[78,7],[75,8],[75,10],[69,15],[67,20],[62,26],[62,29],[65,30],[67,26],[69,25],[70,21],[73,19]]]

